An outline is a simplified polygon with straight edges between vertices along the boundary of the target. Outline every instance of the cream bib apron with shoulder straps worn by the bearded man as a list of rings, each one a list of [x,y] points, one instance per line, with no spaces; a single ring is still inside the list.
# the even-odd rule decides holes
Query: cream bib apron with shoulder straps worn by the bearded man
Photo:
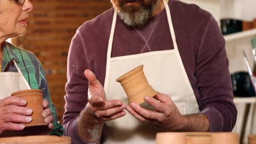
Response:
[[[119,99],[127,105],[124,89],[115,80],[127,71],[143,64],[143,70],[150,85],[156,91],[170,95],[182,115],[198,113],[199,106],[179,55],[170,9],[166,1],[163,1],[172,36],[173,50],[153,51],[111,58],[110,54],[117,19],[117,13],[114,13],[104,82],[106,98],[107,100]],[[158,132],[158,128],[153,127],[152,124],[140,122],[129,112],[126,112],[124,117],[105,123],[103,143],[155,143],[155,136]]]

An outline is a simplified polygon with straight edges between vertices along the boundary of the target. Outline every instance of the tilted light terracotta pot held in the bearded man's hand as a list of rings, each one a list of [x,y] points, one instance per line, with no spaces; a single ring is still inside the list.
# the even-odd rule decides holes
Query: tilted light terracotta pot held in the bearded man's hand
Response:
[[[123,86],[129,104],[134,102],[140,105],[144,103],[144,97],[154,97],[157,94],[144,75],[143,65],[120,76],[117,81]]]

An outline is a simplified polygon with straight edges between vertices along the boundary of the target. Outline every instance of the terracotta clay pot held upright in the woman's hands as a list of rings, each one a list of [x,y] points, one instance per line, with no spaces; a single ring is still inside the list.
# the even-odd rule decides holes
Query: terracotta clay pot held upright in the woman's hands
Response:
[[[40,89],[27,89],[23,91],[18,91],[11,93],[11,96],[23,98],[27,101],[26,107],[33,110],[31,115],[32,121],[30,123],[24,123],[25,127],[31,127],[36,125],[47,125],[42,118],[42,112],[44,110],[43,101],[43,91]]]

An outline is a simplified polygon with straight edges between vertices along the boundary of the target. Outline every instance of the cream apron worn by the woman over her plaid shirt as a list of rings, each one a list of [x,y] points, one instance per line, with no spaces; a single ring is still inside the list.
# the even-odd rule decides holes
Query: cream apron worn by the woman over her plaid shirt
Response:
[[[31,89],[25,77],[22,75],[19,67],[16,65],[15,60],[13,60],[13,63],[17,68],[18,73],[0,72],[0,99],[9,97],[11,93],[16,91]]]

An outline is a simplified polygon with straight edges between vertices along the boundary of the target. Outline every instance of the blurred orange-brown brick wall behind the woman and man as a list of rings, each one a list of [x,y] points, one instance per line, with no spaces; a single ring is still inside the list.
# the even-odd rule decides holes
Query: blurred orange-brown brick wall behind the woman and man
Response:
[[[33,0],[27,33],[14,44],[33,52],[43,64],[58,120],[65,100],[67,54],[76,29],[111,7],[109,0]]]

